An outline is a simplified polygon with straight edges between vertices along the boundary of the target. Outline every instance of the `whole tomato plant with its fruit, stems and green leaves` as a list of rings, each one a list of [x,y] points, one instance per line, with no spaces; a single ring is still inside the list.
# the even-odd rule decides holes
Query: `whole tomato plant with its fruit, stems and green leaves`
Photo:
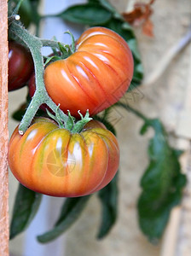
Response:
[[[18,4],[14,7],[13,2]],[[32,16],[27,15],[27,19],[37,26],[38,35],[38,25],[42,18],[38,14],[38,1],[24,2],[32,3],[29,4],[32,7]],[[117,102],[118,107],[136,114],[143,120],[142,134],[148,127],[152,127],[154,131],[149,142],[149,164],[142,177],[142,194],[137,203],[137,212],[143,233],[150,241],[158,240],[165,230],[171,208],[180,202],[186,177],[182,175],[178,161],[180,152],[171,148],[165,128],[159,119],[148,119],[129,105],[118,102],[128,90],[132,79],[133,61],[130,49],[135,63],[131,82],[133,86],[130,86],[130,90],[136,90],[143,78],[141,56],[132,27],[107,0],[89,0],[85,4],[71,6],[55,16],[86,26],[106,26],[108,29],[90,28],[82,34],[76,44],[72,38],[70,47],[56,39],[34,37],[23,29],[20,20],[25,19],[18,20],[17,15],[19,9],[20,15],[22,13],[22,4],[22,0],[9,0],[9,36],[14,40],[19,38],[20,42],[30,49],[35,65],[35,79],[33,76],[31,80],[31,102],[27,102],[29,105],[26,113],[9,143],[9,166],[20,183],[29,188],[20,184],[18,189],[10,237],[13,238],[25,230],[35,216],[41,195],[34,191],[46,195],[72,197],[89,195],[107,183],[108,185],[97,193],[102,206],[102,219],[97,237],[101,239],[111,230],[118,216],[118,178],[117,175],[115,178],[113,176],[119,166],[119,147],[113,136],[116,133],[109,120],[112,108],[106,109],[102,115],[96,116],[96,119],[101,119],[113,134],[101,123],[89,122],[88,114],[75,122],[70,113],[67,115],[61,109],[64,112],[70,109],[72,115],[77,117],[79,109],[84,114],[88,108],[93,115]],[[26,11],[23,13],[26,14]],[[45,18],[43,15],[43,19]],[[124,40],[130,45],[130,49]],[[51,47],[53,59],[41,54],[43,47]],[[16,63],[14,61],[14,65]],[[47,63],[50,64],[44,72]],[[25,74],[26,72],[21,73],[16,79],[23,79]],[[49,94],[44,87],[44,81]],[[21,82],[18,84],[16,88],[22,86]],[[50,119],[34,119],[42,104],[52,110],[51,113],[48,112],[49,116],[56,119],[59,127]],[[61,109],[58,104],[61,104]],[[55,113],[54,117],[52,113]],[[76,129],[80,124],[80,129]],[[53,229],[38,236],[38,241],[52,241],[66,231],[83,211],[89,198],[90,196],[67,198]]]

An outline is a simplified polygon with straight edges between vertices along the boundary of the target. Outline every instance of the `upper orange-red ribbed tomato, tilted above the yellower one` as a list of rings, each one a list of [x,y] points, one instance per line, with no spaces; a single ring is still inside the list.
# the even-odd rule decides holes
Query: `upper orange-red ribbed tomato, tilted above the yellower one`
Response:
[[[77,51],[67,59],[50,63],[44,71],[49,96],[60,108],[78,117],[78,110],[90,115],[118,102],[133,76],[129,46],[116,32],[104,27],[85,31]]]

